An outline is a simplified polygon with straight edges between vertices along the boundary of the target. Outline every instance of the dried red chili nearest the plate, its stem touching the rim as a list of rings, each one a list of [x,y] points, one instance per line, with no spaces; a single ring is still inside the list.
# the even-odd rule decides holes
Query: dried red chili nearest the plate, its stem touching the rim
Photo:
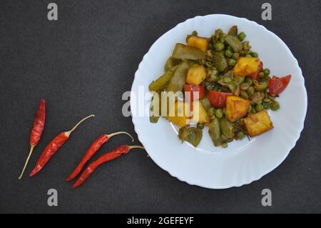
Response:
[[[99,167],[101,164],[105,162],[109,162],[113,159],[116,159],[118,157],[121,157],[123,154],[127,154],[131,149],[144,149],[141,146],[127,146],[127,145],[121,145],[117,147],[116,149],[113,149],[111,152],[108,152],[106,154],[102,154],[101,157],[98,157],[98,159],[94,162],[91,162],[91,164],[88,165],[88,167],[83,171],[81,174],[81,177],[73,184],[73,189],[76,189],[79,187],[83,182],[86,182],[86,179],[93,174],[93,172]]]

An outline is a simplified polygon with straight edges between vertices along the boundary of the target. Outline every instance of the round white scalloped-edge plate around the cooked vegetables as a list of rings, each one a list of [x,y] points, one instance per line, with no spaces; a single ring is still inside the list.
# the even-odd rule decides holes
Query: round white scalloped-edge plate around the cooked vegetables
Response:
[[[254,21],[223,14],[196,16],[170,29],[151,46],[138,66],[131,90],[138,94],[138,86],[144,86],[148,91],[148,84],[163,74],[163,66],[175,43],[184,43],[186,34],[196,30],[200,36],[208,37],[215,29],[227,32],[233,25],[245,32],[246,40],[272,75],[292,74],[289,86],[277,99],[281,108],[270,111],[274,129],[250,142],[248,139],[234,141],[223,149],[213,146],[205,128],[203,139],[195,149],[187,143],[181,144],[175,127],[165,119],[151,124],[148,116],[133,115],[138,139],[159,167],[183,182],[210,189],[240,187],[258,180],[279,166],[295,147],[307,111],[307,91],[302,71],[290,49],[278,36]],[[132,111],[137,102],[131,97]]]

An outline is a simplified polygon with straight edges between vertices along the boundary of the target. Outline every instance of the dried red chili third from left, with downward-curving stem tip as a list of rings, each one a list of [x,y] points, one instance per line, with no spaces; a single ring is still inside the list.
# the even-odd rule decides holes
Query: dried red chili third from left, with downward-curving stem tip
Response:
[[[108,142],[108,140],[111,137],[116,136],[118,134],[127,134],[129,137],[131,137],[132,142],[133,142],[133,137],[131,136],[131,134],[128,134],[127,132],[115,132],[115,133],[112,133],[112,134],[103,134],[103,135],[101,135],[100,137],[98,137],[98,139],[96,139],[93,142],[93,144],[91,144],[91,146],[87,150],[86,154],[81,159],[81,162],[79,162],[79,164],[76,167],[76,169],[74,169],[73,172],[66,179],[66,182],[69,182],[73,178],[75,178],[81,172],[81,169],[83,169],[83,166],[86,164],[86,162],[88,162],[91,159],[91,157],[93,157],[93,155],[96,154],[98,149],[100,149],[103,144]]]

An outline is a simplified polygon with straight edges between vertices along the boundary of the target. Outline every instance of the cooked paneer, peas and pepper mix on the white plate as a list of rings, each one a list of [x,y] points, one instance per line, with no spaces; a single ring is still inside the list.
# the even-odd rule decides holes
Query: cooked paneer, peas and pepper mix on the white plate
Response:
[[[259,54],[245,38],[238,26],[232,26],[227,34],[216,29],[209,38],[193,31],[186,44],[175,44],[165,73],[149,86],[153,92],[151,122],[165,117],[180,127],[179,139],[194,147],[205,127],[215,147],[228,147],[233,140],[250,139],[272,129],[267,110],[280,109],[276,98],[291,75],[271,77],[270,69],[263,68]],[[167,104],[169,99],[172,102]],[[161,110],[166,107],[167,111]]]

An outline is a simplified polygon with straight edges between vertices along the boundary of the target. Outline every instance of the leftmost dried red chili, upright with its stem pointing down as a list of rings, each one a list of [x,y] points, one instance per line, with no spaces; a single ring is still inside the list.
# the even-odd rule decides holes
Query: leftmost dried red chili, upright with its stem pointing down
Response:
[[[40,100],[40,104],[38,106],[36,117],[34,119],[34,126],[31,130],[30,135],[30,152],[26,159],[26,162],[24,163],[24,168],[22,169],[22,172],[18,179],[22,178],[22,175],[24,175],[24,169],[26,169],[26,166],[29,162],[29,159],[31,157],[32,152],[34,151],[34,147],[39,143],[42,132],[44,132],[44,124],[46,122],[46,101],[44,99]]]

